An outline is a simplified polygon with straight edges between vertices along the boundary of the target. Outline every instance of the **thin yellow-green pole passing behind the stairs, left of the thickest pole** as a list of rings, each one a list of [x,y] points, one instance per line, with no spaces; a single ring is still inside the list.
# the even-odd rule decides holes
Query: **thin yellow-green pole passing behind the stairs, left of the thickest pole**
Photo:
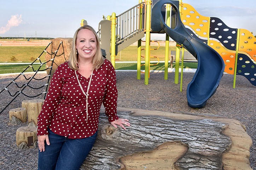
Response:
[[[139,4],[142,2],[142,0],[139,0]],[[140,27],[139,29],[142,29],[142,8],[143,4],[140,4]],[[140,80],[140,70],[141,70],[141,39],[138,40],[138,53],[137,53],[137,79]]]

